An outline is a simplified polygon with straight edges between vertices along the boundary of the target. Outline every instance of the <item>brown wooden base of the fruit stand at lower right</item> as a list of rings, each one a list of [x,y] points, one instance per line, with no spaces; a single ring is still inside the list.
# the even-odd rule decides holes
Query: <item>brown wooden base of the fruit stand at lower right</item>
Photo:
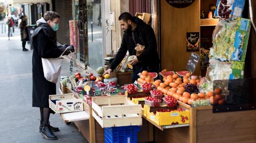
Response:
[[[159,126],[145,118],[155,127],[156,142],[256,142],[256,111],[212,113],[212,106],[190,107],[189,124]]]

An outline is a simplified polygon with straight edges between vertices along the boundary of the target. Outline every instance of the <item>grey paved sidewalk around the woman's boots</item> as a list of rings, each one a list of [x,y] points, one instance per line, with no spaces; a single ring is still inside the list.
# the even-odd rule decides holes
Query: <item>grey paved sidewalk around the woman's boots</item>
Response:
[[[51,125],[60,128],[55,132],[58,140],[41,136],[38,132],[39,108],[32,107],[32,51],[22,51],[18,28],[10,40],[7,33],[0,32],[0,44],[0,142],[87,142],[74,123],[66,125],[58,114],[50,116]],[[26,48],[30,49],[28,44]],[[64,60],[61,76],[69,75],[69,66]],[[74,67],[74,72],[76,70],[80,71]]]

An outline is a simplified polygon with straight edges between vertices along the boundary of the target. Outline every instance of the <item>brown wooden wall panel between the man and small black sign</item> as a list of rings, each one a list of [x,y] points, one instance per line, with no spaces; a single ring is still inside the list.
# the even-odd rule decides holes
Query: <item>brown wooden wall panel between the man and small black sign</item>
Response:
[[[160,0],[161,68],[168,71],[187,71],[191,52],[186,50],[186,34],[200,31],[200,0],[186,8],[175,8]],[[199,54],[197,51],[196,53]],[[198,64],[196,75],[200,75]]]

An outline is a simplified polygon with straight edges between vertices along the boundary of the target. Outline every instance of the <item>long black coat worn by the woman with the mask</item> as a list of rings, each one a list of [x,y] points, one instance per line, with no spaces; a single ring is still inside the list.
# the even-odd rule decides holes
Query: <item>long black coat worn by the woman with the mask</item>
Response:
[[[61,51],[56,46],[56,33],[47,23],[40,23],[32,35],[33,107],[49,107],[49,95],[56,94],[56,84],[46,80],[41,58],[58,58]]]

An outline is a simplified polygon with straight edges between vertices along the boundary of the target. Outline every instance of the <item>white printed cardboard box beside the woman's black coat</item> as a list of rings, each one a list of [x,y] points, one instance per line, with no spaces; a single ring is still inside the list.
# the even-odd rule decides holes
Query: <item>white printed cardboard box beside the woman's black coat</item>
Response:
[[[49,95],[49,107],[56,113],[83,111],[82,99],[74,94]]]

